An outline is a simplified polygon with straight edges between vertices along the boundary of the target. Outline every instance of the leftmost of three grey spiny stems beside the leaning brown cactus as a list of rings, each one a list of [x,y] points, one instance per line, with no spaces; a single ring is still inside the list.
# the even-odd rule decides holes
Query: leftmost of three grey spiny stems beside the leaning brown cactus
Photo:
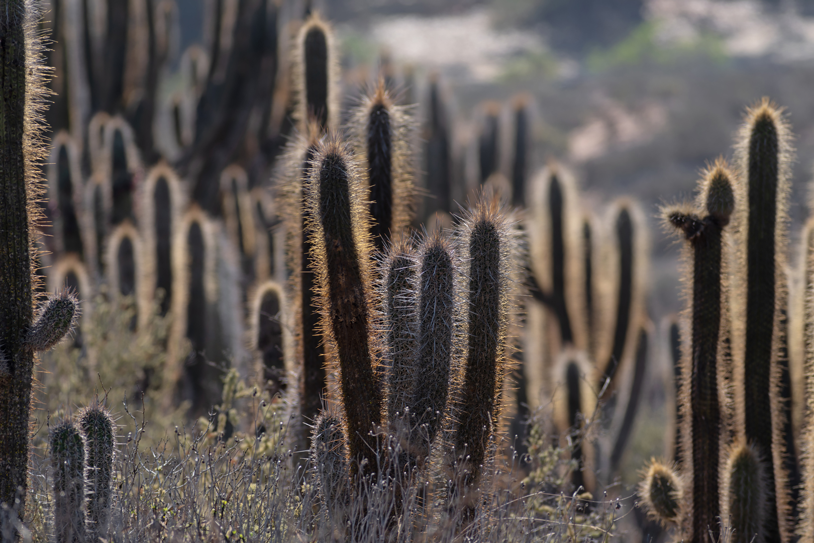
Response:
[[[387,420],[405,414],[416,376],[415,257],[408,241],[400,239],[387,253],[382,280],[386,322]]]

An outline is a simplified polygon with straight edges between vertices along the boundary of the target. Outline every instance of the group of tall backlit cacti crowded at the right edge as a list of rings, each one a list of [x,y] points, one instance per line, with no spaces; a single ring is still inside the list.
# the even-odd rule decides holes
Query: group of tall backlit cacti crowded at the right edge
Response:
[[[650,487],[641,492],[651,512],[678,522],[689,541],[716,541],[722,529],[733,541],[812,533],[811,236],[806,227],[800,294],[790,300],[790,139],[782,110],[763,99],[746,113],[737,169],[716,161],[698,204],[665,210],[688,242],[681,333],[689,337],[676,368],[678,515],[650,505]],[[672,344],[679,328],[671,327]],[[800,388],[791,386],[790,358],[805,380]],[[796,425],[793,403],[804,406]]]

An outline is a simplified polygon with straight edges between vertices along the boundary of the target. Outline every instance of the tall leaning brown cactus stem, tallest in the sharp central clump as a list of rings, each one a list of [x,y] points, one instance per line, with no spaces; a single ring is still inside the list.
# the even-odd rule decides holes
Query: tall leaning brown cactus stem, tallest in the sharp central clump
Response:
[[[317,147],[308,185],[308,231],[313,241],[322,325],[339,360],[339,389],[352,475],[379,472],[383,397],[374,358],[369,228],[361,182],[336,134]]]

